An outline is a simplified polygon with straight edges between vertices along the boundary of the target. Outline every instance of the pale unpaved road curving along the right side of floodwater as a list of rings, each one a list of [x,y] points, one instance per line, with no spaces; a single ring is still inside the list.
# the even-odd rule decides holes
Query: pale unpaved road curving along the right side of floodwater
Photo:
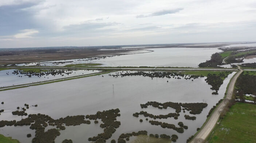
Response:
[[[236,65],[237,66],[237,65]],[[236,79],[239,77],[239,75],[243,72],[243,70],[240,68],[240,66],[237,66],[239,69],[239,72],[233,76],[233,79],[231,80],[229,87],[228,87],[228,92],[226,98],[219,104],[219,106],[216,108],[216,110],[213,112],[211,115],[210,119],[206,122],[205,126],[199,131],[199,133],[194,136],[193,140],[191,143],[204,143],[205,139],[207,136],[212,132],[212,129],[216,125],[221,111],[225,108],[227,105],[228,101],[231,100],[232,98],[232,93],[235,87]]]

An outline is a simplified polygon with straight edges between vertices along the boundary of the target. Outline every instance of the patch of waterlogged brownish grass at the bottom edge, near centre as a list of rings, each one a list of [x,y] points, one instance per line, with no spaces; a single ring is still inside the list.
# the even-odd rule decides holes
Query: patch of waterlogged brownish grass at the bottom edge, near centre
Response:
[[[172,141],[170,139],[155,138],[147,135],[138,135],[137,138],[131,142],[132,143],[171,143]]]

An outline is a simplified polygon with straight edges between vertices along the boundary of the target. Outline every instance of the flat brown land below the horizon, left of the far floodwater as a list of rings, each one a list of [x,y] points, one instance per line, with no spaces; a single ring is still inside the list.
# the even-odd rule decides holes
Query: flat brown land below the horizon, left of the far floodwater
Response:
[[[0,64],[19,64],[51,60],[92,58],[101,55],[122,55],[132,50],[99,50],[84,48],[62,49],[21,49],[16,51],[0,50]]]

